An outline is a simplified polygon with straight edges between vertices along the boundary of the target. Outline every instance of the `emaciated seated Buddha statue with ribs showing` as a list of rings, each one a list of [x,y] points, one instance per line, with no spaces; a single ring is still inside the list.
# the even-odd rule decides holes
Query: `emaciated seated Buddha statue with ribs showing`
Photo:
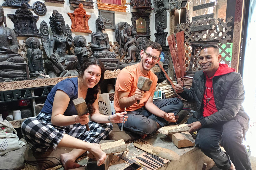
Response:
[[[99,15],[95,21],[96,32],[92,33],[91,48],[93,50],[93,56],[96,58],[116,58],[114,52],[109,51],[109,39],[108,34],[103,33],[105,31],[106,18],[103,15]],[[104,62],[104,65],[115,66],[112,62]]]

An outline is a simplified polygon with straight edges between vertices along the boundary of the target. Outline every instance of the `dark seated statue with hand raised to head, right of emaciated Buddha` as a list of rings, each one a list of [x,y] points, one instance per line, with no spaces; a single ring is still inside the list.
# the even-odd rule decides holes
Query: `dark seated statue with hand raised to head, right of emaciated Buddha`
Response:
[[[132,27],[130,25],[126,25],[123,29],[123,34],[120,31],[121,42],[124,45],[124,51],[128,52],[128,57],[124,58],[124,60],[131,59],[134,61],[135,52],[137,50],[136,38],[132,37]]]

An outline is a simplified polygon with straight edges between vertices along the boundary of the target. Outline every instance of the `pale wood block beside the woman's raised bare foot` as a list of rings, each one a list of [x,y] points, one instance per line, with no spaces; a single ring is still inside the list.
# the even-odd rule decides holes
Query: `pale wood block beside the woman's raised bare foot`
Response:
[[[100,144],[101,150],[106,153],[106,155],[111,155],[118,152],[123,152],[127,150],[127,145],[124,142],[124,139],[120,139],[115,142],[108,142]],[[94,158],[91,153],[88,153],[89,158]]]

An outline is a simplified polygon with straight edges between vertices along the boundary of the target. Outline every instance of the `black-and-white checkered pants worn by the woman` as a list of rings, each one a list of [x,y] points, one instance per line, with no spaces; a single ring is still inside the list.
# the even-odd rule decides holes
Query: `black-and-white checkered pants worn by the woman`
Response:
[[[90,131],[86,131],[85,125],[81,124],[54,126],[51,123],[51,114],[41,112],[36,118],[26,119],[21,125],[21,132],[30,149],[43,152],[50,147],[55,149],[65,133],[88,143],[99,143],[113,129],[111,123],[100,124],[90,121],[88,125]]]

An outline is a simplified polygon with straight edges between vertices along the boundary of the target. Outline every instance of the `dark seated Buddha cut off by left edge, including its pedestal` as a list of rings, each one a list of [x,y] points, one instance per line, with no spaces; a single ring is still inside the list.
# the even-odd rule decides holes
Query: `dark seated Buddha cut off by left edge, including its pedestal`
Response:
[[[7,69],[0,69],[0,79],[26,77],[25,70],[14,67],[25,63],[25,59],[18,54],[18,48],[16,34],[13,29],[7,27],[4,10],[0,6],[0,65],[7,67]]]

